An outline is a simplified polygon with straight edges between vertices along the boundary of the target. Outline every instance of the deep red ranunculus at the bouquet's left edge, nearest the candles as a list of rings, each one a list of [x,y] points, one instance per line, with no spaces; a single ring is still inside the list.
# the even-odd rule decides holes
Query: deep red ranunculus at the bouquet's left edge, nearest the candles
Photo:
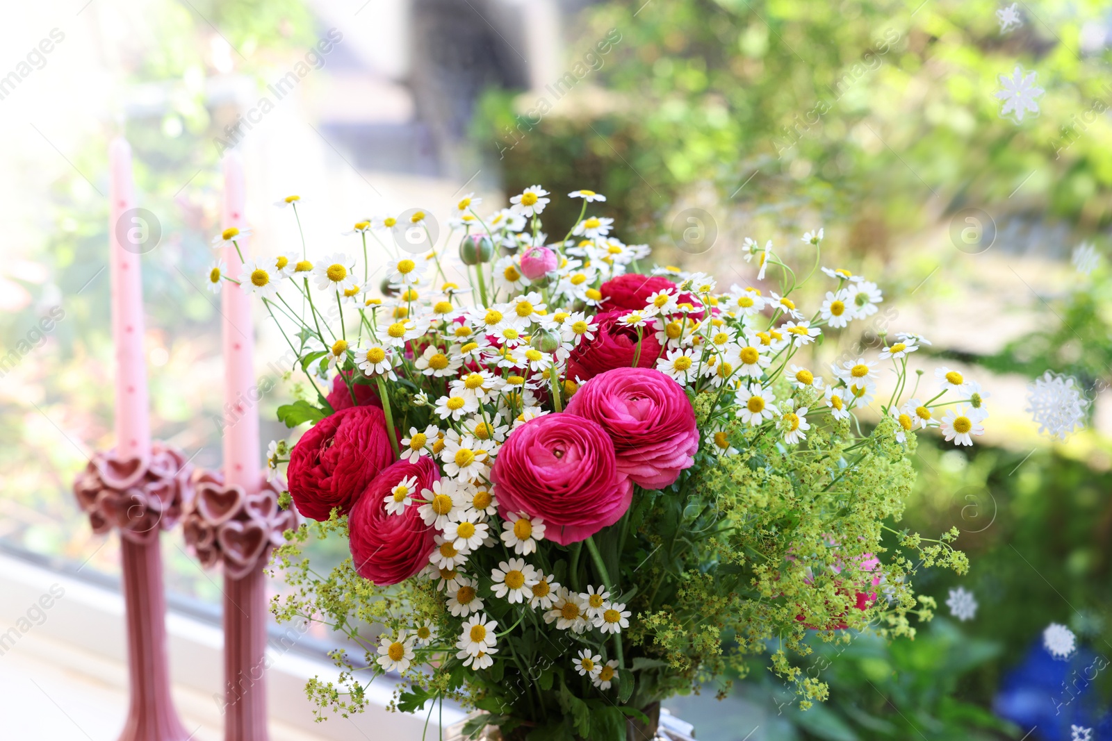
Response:
[[[297,511],[327,520],[341,514],[378,472],[394,462],[386,418],[378,407],[348,407],[310,428],[289,454],[289,493]]]

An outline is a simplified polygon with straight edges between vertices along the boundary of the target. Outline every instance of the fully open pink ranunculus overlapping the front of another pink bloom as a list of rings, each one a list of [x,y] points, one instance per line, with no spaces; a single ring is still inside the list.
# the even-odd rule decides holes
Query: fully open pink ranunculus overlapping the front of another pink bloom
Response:
[[[633,501],[633,483],[617,470],[614,443],[596,422],[545,414],[514,430],[490,472],[498,513],[545,520],[545,538],[560,545],[614,524]]]

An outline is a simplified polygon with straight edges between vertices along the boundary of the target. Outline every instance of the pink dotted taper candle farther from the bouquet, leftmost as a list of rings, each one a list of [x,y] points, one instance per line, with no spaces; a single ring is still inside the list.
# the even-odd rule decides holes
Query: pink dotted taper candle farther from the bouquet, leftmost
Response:
[[[142,281],[139,274],[141,246],[120,241],[132,228],[125,213],[135,208],[131,180],[131,147],[116,139],[108,149],[111,199],[109,240],[112,280],[112,339],[116,341],[116,454],[120,458],[150,455],[147,360],[143,353]]]

